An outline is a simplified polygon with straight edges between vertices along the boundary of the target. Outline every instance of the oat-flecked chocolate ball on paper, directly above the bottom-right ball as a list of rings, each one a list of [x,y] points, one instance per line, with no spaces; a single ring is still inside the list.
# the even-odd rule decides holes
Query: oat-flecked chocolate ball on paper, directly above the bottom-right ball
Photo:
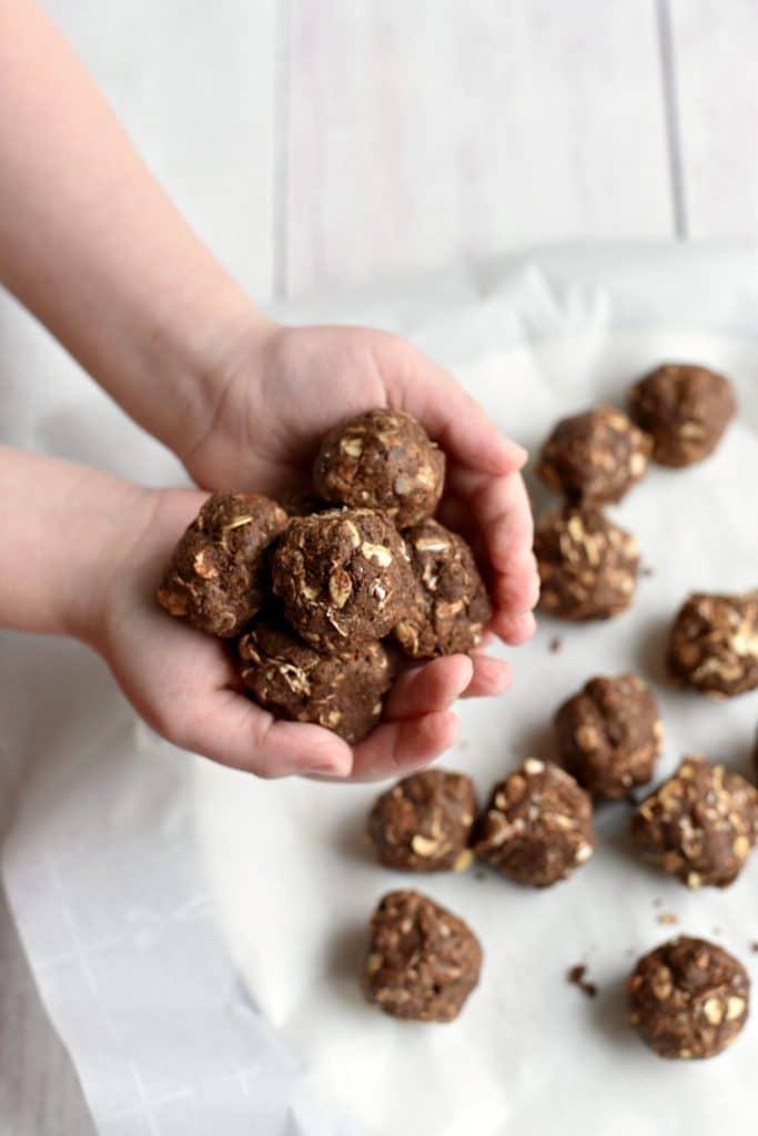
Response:
[[[632,817],[641,857],[688,887],[727,887],[744,868],[757,835],[758,791],[700,757],[685,758]]]

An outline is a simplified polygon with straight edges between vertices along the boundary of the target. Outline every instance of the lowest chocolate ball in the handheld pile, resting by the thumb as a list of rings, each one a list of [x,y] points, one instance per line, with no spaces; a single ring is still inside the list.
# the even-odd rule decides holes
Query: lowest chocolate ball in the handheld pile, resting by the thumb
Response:
[[[319,654],[283,624],[259,619],[240,657],[242,682],[276,718],[324,726],[355,745],[381,717],[391,677],[381,643]]]

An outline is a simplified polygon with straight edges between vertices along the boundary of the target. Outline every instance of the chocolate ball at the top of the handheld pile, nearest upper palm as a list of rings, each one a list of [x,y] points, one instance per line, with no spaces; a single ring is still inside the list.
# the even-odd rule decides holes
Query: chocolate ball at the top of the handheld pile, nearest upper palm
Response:
[[[389,407],[335,426],[314,466],[316,491],[326,501],[385,509],[398,528],[432,516],[443,482],[442,451],[415,418]]]

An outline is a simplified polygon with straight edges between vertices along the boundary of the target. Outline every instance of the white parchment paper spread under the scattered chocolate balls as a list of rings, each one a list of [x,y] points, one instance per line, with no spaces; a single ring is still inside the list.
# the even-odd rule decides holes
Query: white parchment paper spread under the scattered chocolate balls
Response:
[[[285,315],[410,335],[527,445],[558,415],[618,399],[661,358],[727,371],[741,414],[717,454],[653,468],[613,510],[653,570],[634,609],[589,627],[543,620],[534,643],[507,652],[511,692],[461,707],[461,742],[442,763],[484,794],[526,753],[550,753],[563,698],[592,674],[633,669],[661,702],[661,776],[688,751],[747,769],[756,695],[714,704],[673,692],[660,658],[688,591],[758,577],[752,252],[559,251]],[[8,440],[178,482],[173,460],[20,316],[0,329],[3,354],[13,349]],[[594,859],[551,891],[418,880],[472,922],[486,959],[457,1024],[403,1027],[356,992],[366,919],[407,883],[361,842],[375,790],[257,783],[195,762],[138,726],[105,668],[72,644],[3,636],[0,711],[17,788],[3,879],[101,1131],[709,1134],[750,1106],[758,1026],[717,1061],[661,1062],[624,1025],[622,980],[634,954],[672,934],[660,912],[758,969],[755,864],[726,892],[688,893],[634,861],[625,807],[609,805]],[[594,1001],[565,983],[580,961]]]

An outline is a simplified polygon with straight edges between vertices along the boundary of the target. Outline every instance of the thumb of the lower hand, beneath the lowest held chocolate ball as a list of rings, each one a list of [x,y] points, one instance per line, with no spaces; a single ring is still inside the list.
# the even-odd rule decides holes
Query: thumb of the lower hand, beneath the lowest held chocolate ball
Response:
[[[234,691],[215,691],[178,710],[181,720],[167,732],[170,740],[233,769],[258,777],[347,777],[352,768],[350,746],[336,734],[320,726],[276,721]]]

